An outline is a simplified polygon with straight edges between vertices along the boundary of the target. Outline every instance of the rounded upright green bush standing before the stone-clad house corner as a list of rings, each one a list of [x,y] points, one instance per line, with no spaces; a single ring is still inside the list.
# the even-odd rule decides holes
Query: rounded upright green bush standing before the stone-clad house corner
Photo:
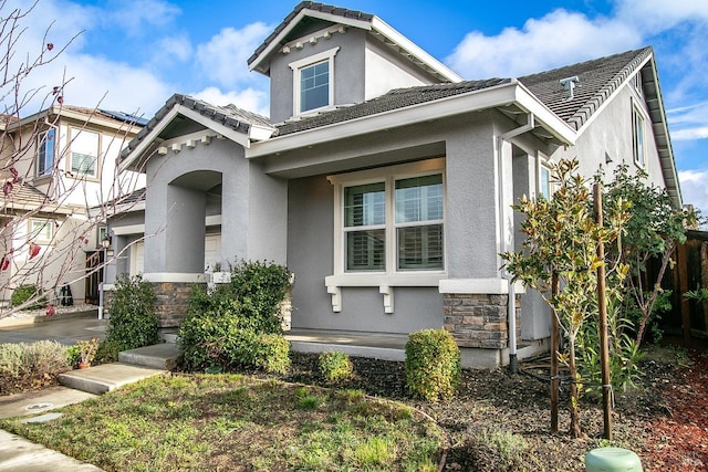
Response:
[[[406,343],[406,385],[429,401],[449,398],[460,379],[460,349],[445,329],[412,333]]]

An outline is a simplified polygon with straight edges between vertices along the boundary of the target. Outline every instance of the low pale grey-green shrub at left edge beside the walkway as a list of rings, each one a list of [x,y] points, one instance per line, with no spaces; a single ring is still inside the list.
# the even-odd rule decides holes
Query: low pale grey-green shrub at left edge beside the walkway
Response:
[[[0,395],[12,392],[15,382],[41,384],[70,369],[66,348],[54,340],[0,344]]]

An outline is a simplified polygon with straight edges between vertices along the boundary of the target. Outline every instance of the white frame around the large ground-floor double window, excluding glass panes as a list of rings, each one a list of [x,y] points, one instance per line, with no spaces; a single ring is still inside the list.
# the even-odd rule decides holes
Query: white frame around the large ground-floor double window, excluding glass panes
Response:
[[[327,277],[330,286],[376,286],[376,285],[409,285],[437,286],[447,273],[447,244],[442,244],[442,268],[421,270],[398,270],[397,228],[406,223],[395,222],[395,182],[396,180],[414,177],[425,177],[439,174],[442,176],[442,220],[426,221],[426,224],[442,224],[445,238],[446,209],[446,176],[445,159],[435,158],[412,164],[389,166],[351,174],[327,177],[334,186],[334,275]],[[346,271],[346,241],[344,228],[344,188],[385,182],[386,187],[386,243],[385,269],[383,271]],[[365,227],[362,227],[365,228]],[[382,292],[383,293],[383,292]]]

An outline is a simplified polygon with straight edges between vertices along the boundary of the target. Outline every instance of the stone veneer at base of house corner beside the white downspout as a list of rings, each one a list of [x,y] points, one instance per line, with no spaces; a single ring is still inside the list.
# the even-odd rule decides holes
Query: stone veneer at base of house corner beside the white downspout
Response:
[[[502,349],[509,344],[509,295],[442,294],[445,329],[459,347]],[[521,301],[517,295],[517,340],[521,338]]]

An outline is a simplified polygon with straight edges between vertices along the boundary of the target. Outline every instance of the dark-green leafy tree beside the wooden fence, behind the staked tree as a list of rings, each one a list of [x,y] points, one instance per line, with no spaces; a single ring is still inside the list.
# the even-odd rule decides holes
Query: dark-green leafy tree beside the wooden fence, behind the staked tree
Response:
[[[628,166],[622,165],[615,169],[614,179],[605,186],[605,199],[632,202],[632,218],[627,222],[622,251],[615,254],[631,268],[625,301],[639,313],[635,319],[637,346],[652,322],[663,292],[662,280],[666,269],[673,264],[674,249],[686,241],[685,225],[697,218],[688,210],[676,208],[666,189],[648,185],[647,177],[642,169],[631,175]],[[596,180],[602,178],[602,174],[595,177]],[[650,280],[647,273],[650,260],[658,261],[656,280]]]

